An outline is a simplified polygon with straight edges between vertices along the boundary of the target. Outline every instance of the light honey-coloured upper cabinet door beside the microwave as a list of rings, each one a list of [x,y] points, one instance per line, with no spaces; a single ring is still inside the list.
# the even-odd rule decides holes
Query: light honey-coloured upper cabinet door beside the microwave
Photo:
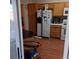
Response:
[[[54,16],[62,16],[64,10],[64,3],[54,4]]]

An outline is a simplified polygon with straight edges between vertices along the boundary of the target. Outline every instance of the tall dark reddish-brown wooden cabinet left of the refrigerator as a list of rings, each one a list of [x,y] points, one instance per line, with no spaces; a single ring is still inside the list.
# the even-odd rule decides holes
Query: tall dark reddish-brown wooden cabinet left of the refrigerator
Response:
[[[28,4],[28,22],[29,22],[29,31],[32,31],[33,34],[36,34],[36,4]]]

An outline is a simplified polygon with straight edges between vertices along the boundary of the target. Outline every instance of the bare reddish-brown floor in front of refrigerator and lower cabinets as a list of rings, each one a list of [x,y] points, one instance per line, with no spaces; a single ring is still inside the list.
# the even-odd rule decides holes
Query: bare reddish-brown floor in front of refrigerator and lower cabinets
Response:
[[[41,59],[62,59],[64,41],[59,39],[42,38],[38,41],[41,46],[38,48]]]

